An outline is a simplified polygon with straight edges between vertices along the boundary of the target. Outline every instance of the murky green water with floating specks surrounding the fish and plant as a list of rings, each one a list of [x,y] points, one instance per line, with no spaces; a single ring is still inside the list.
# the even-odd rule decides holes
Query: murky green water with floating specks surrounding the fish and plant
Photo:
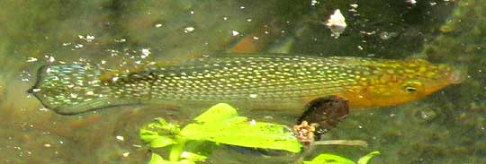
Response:
[[[406,105],[355,111],[325,139],[366,148],[321,147],[371,163],[486,161],[486,4],[467,1],[2,1],[0,163],[142,163],[139,126],[153,117],[186,120],[164,106],[120,107],[76,116],[42,108],[26,92],[49,63],[120,67],[236,52],[369,56],[467,67],[468,78]],[[352,5],[353,4],[353,5]],[[357,4],[357,7],[356,5]],[[325,25],[340,9],[338,39]],[[245,40],[257,44],[241,46]],[[275,122],[293,122],[275,117]],[[248,158],[250,155],[251,158]],[[282,162],[221,148],[214,163]],[[280,159],[280,160],[279,160]]]

